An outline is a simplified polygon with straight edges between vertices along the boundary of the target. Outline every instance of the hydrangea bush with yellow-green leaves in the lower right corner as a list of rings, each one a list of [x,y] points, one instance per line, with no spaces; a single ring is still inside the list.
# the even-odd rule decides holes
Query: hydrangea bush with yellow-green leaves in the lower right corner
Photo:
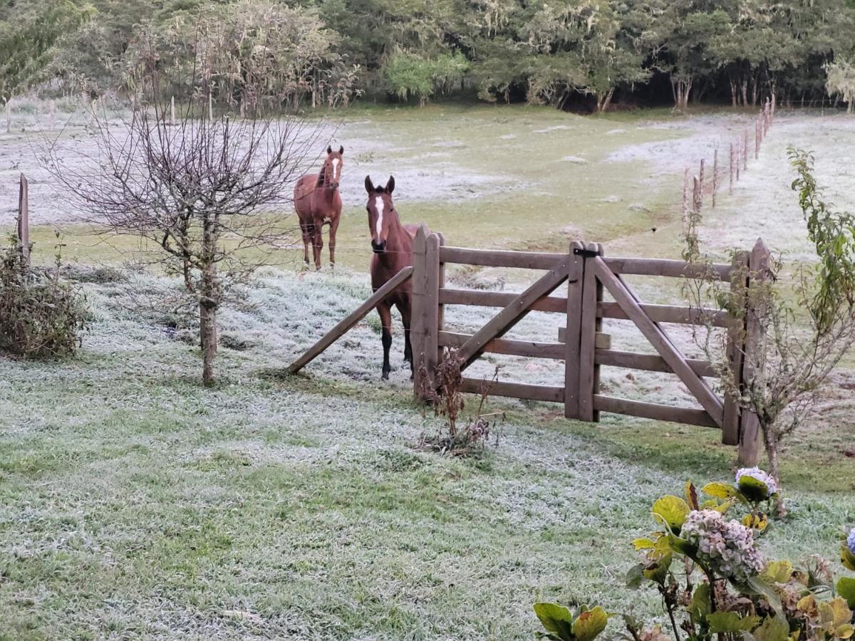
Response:
[[[836,585],[830,564],[811,557],[805,567],[770,561],[755,536],[768,524],[759,506],[775,498],[774,481],[756,468],[740,470],[736,484],[713,483],[702,492],[687,483],[685,499],[659,498],[652,515],[662,530],[633,544],[644,560],[629,570],[627,585],[652,585],[662,597],[670,630],[645,628],[623,615],[632,641],[832,641],[855,636],[855,578]],[[718,499],[724,498],[723,502]],[[740,520],[725,514],[742,504],[751,512]],[[756,527],[760,524],[761,527]],[[840,550],[841,562],[855,570],[855,528]],[[596,607],[572,612],[557,603],[536,603],[534,612],[556,641],[593,641],[613,613]]]

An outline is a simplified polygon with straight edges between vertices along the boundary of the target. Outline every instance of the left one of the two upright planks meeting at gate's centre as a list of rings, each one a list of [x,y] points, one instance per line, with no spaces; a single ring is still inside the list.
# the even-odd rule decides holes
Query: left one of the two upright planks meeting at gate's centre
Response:
[[[564,416],[569,419],[581,418],[579,414],[579,379],[581,373],[581,322],[582,322],[582,287],[585,279],[585,258],[581,251],[585,245],[576,241],[570,244],[570,264],[568,270],[567,299],[564,309],[567,313],[567,323],[559,327],[564,336]],[[571,337],[566,340],[566,337]]]

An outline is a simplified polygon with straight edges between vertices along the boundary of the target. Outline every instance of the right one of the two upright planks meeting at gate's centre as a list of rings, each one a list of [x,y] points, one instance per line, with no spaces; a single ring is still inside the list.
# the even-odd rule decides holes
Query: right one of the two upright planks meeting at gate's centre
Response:
[[[598,252],[599,246],[587,244],[586,252]],[[581,295],[581,329],[579,347],[579,418],[596,420],[593,407],[593,395],[597,393],[598,372],[594,362],[597,332],[602,321],[597,318],[597,303],[602,297],[602,285],[599,285],[596,273],[592,269],[592,256],[585,256],[584,280]]]

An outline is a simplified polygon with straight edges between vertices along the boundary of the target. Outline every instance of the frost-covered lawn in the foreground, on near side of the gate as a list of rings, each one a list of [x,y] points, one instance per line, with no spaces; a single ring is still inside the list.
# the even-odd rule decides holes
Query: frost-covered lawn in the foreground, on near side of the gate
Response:
[[[622,587],[628,540],[658,495],[730,474],[711,430],[537,403],[493,403],[508,418],[481,460],[414,450],[436,422],[404,368],[380,382],[374,321],[281,374],[362,275],[263,273],[223,314],[245,349],[221,347],[211,390],[192,332],[85,286],[77,360],[0,360],[0,638],[509,639],[538,599],[653,612]],[[855,520],[824,460],[788,459],[769,554],[833,556]]]

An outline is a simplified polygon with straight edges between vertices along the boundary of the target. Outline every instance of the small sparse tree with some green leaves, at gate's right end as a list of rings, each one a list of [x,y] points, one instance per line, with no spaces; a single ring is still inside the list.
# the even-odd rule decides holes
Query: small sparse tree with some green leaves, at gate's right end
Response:
[[[728,335],[707,326],[698,343],[721,375],[722,391],[737,399],[745,413],[756,416],[769,458],[769,472],[780,482],[781,442],[816,409],[818,392],[846,352],[855,344],[855,215],[829,209],[813,177],[810,154],[791,149],[798,178],[793,190],[805,215],[808,237],[817,252],[815,265],[795,268],[794,283],[762,241],[752,261],[734,273],[743,283],[722,288],[721,281],[690,281],[684,291],[704,307],[716,300],[741,326],[730,340],[746,345],[742,368],[734,372],[728,357]],[[687,250],[689,260],[702,260]],[[731,355],[732,356],[732,355]]]

